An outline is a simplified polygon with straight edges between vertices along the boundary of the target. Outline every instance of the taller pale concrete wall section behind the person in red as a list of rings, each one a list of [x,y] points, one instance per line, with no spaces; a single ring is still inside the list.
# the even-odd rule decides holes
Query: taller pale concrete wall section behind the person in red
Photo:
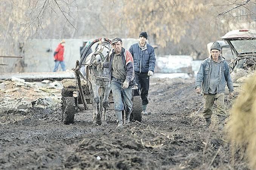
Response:
[[[65,39],[64,61],[66,69],[75,67],[80,60],[82,39]],[[24,72],[51,72],[54,68],[53,53],[60,39],[28,39],[24,44]],[[61,67],[59,65],[59,70]]]

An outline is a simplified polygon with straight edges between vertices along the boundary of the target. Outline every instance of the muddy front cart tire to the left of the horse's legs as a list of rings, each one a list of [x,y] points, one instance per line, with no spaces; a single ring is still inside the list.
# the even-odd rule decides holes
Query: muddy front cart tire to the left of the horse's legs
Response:
[[[74,123],[76,105],[74,97],[64,97],[62,121],[64,124]]]

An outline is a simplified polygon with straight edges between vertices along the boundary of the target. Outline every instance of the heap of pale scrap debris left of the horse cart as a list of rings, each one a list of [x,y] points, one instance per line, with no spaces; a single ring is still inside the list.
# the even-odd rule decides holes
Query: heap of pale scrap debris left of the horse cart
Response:
[[[60,108],[62,88],[57,81],[26,82],[13,76],[0,83],[0,110]]]

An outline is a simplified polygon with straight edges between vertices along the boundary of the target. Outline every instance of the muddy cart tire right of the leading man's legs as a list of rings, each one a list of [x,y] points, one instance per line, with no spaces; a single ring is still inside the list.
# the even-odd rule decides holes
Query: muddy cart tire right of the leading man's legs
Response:
[[[134,121],[142,121],[142,100],[140,96],[133,96],[133,112],[131,114]]]

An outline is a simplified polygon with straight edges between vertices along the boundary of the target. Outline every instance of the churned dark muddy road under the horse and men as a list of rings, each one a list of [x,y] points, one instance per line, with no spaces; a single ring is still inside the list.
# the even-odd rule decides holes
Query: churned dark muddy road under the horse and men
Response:
[[[92,124],[91,112],[75,123],[60,121],[61,108],[0,113],[0,169],[248,169],[233,150],[228,124],[217,130],[217,116],[204,129],[202,96],[193,79],[151,79],[148,111],[142,123],[116,131]],[[228,123],[229,117],[226,120]]]

